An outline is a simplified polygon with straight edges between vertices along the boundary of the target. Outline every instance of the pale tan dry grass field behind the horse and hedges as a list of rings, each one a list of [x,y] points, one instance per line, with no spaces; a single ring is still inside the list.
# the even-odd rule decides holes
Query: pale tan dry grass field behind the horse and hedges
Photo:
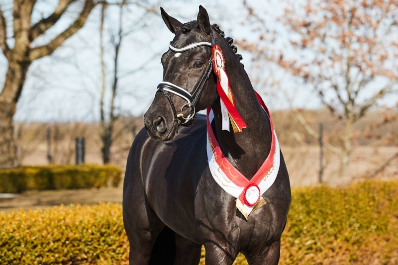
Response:
[[[117,147],[115,147],[116,149]],[[47,147],[44,143],[39,144],[34,152],[30,153],[23,160],[24,165],[45,165],[47,164]],[[319,174],[319,147],[314,145],[281,146],[285,161],[288,166],[291,185],[293,187],[318,184]],[[119,148],[118,159],[113,163],[122,167],[126,166],[129,146]],[[365,178],[373,173],[380,165],[398,152],[394,146],[357,146],[351,156],[350,175],[339,177],[339,159],[329,152],[325,153],[324,159],[324,183],[332,186],[347,185],[357,179]],[[73,154],[74,159],[74,154]],[[72,162],[72,161],[71,161]],[[86,163],[101,163],[100,147],[97,152],[89,149],[86,153]],[[398,160],[386,168],[377,178],[398,177]]]

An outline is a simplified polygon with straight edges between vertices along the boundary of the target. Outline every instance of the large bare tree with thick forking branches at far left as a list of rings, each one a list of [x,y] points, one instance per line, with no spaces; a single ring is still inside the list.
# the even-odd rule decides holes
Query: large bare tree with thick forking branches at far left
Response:
[[[95,6],[93,0],[84,0],[81,12],[67,29],[45,45],[34,45],[34,40],[45,34],[73,2],[76,0],[59,0],[51,15],[32,24],[31,15],[36,1],[14,0],[13,47],[9,47],[7,43],[7,36],[11,34],[7,34],[5,18],[0,7],[0,47],[8,61],[5,83],[0,93],[0,167],[12,167],[18,164],[12,118],[30,64],[36,59],[50,55],[66,39],[82,28]]]

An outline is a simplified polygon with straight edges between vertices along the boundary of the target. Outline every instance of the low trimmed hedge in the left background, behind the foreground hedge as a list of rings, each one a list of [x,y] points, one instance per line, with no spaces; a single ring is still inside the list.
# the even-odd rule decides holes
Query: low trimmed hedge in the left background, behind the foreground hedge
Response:
[[[25,190],[117,186],[121,169],[114,165],[50,165],[0,170],[0,193]]]

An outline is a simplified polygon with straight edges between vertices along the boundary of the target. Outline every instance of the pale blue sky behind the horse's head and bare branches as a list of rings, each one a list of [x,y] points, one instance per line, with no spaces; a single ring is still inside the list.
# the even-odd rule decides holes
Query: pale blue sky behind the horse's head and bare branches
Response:
[[[5,10],[10,7],[11,0],[0,1],[2,9],[8,19],[10,12]],[[267,10],[270,14],[266,17],[267,23],[274,23],[276,15],[282,12],[283,6],[278,1],[249,1],[255,4],[256,10]],[[33,20],[50,14],[57,1],[38,0],[33,13]],[[157,14],[151,14],[143,19],[138,8],[131,7],[130,12],[125,12],[124,29],[134,29],[122,43],[120,50],[120,78],[116,105],[118,111],[125,115],[141,115],[150,105],[156,91],[156,86],[162,81],[162,66],[160,57],[168,49],[168,43],[173,34],[164,25],[159,8],[163,8],[172,16],[182,22],[195,20],[198,14],[198,6],[202,4],[208,11],[210,23],[217,23],[226,36],[234,39],[254,39],[255,34],[251,28],[242,22],[247,15],[241,1],[163,1],[156,4]],[[78,8],[75,6],[74,8]],[[73,8],[71,8],[73,9]],[[109,8],[108,17],[112,19],[106,24],[106,32],[115,29],[117,24],[117,8]],[[74,18],[73,10],[70,10],[48,34],[39,38],[36,44],[45,43],[52,36],[61,32]],[[33,21],[34,22],[34,21]],[[92,11],[85,27],[68,39],[62,47],[59,47],[51,56],[36,60],[29,68],[28,78],[25,82],[21,98],[18,102],[15,120],[18,121],[95,121],[99,119],[99,99],[101,88],[100,46],[99,46],[99,6]],[[10,23],[8,22],[8,25]],[[109,35],[105,33],[106,41]],[[10,45],[12,43],[9,42]],[[108,74],[106,97],[110,95],[111,84],[111,46],[105,46],[106,72]],[[258,72],[252,65],[252,56],[239,50],[243,55],[242,63],[249,76],[258,76]],[[155,59],[151,60],[155,56]],[[145,70],[130,74],[141,66]],[[0,87],[4,82],[6,71],[5,58],[0,55]],[[310,89],[298,85],[294,79],[286,79],[285,74],[275,68],[264,70],[264,76],[273,75],[283,80],[283,89],[289,92],[289,96],[295,106],[306,108],[319,108],[320,102]],[[300,88],[298,88],[300,86]],[[289,107],[286,93],[278,88],[264,88],[255,86],[264,97],[271,110]],[[393,101],[392,101],[393,102]]]

